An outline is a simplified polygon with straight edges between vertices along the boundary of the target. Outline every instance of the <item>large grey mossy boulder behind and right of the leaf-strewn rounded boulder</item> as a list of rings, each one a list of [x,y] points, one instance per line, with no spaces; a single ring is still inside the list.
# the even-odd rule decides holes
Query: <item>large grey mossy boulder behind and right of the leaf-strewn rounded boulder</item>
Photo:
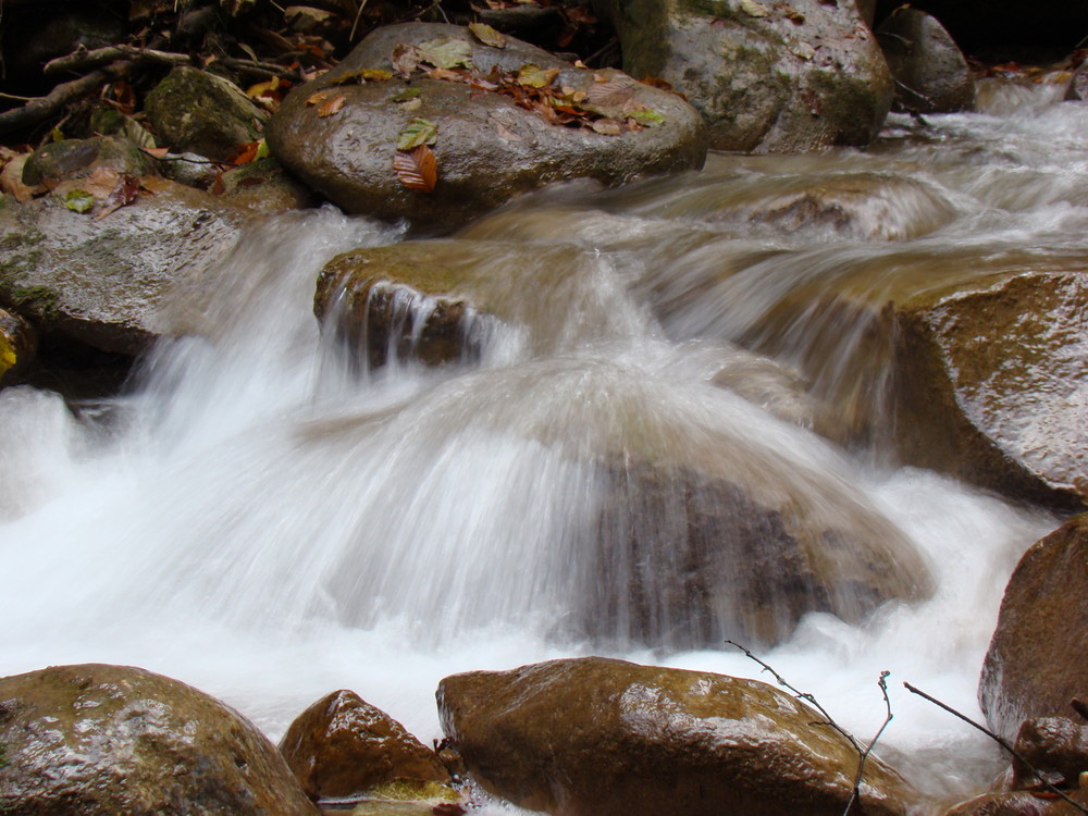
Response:
[[[703,114],[710,147],[793,152],[867,145],[892,81],[852,2],[597,0],[632,76],[660,77]]]

